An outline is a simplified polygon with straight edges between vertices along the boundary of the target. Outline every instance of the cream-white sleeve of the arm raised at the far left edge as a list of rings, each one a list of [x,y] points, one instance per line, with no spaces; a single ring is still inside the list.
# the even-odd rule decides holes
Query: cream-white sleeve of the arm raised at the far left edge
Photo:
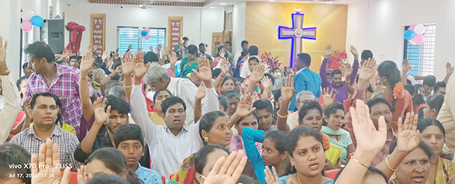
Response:
[[[0,144],[4,143],[10,135],[10,130],[14,125],[20,111],[20,94],[18,87],[13,81],[13,76],[0,76],[2,81],[3,99],[5,106],[0,111]],[[14,84],[14,85],[13,85]]]

